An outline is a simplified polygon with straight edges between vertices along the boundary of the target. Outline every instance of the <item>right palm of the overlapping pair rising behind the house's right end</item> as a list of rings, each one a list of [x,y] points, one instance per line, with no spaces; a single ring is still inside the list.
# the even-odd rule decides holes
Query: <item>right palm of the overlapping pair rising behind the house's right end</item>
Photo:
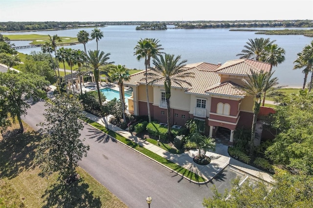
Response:
[[[264,48],[264,54],[260,57],[261,62],[267,62],[270,64],[269,72],[271,72],[273,66],[285,61],[285,50],[281,47],[278,47],[277,44],[268,44]],[[264,92],[262,106],[265,104],[266,92]]]

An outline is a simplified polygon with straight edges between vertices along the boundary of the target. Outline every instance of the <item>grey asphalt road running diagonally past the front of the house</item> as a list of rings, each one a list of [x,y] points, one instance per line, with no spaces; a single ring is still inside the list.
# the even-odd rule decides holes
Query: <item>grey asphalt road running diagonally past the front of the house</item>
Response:
[[[45,121],[44,104],[32,104],[22,117],[35,130]],[[212,196],[213,184],[224,193],[232,179],[245,177],[226,167],[211,183],[196,185],[87,124],[81,131],[84,138],[90,150],[79,166],[130,208],[147,208],[148,196],[152,197],[151,208],[202,208],[203,198]]]

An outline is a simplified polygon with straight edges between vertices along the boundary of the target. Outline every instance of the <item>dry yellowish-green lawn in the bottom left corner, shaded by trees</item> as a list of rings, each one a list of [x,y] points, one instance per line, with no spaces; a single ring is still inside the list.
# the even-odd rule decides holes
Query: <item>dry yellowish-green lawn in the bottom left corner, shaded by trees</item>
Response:
[[[41,138],[28,125],[24,124],[24,129],[21,135],[0,136],[0,208],[127,208],[80,167],[77,172],[81,180],[76,186],[61,185],[56,173],[39,177],[40,169],[33,159]]]

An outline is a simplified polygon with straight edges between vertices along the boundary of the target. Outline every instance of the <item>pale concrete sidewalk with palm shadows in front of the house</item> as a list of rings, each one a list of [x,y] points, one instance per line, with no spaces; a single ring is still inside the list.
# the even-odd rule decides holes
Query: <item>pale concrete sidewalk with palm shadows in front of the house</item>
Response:
[[[106,126],[106,120],[105,118],[98,118],[90,113],[87,113],[84,111],[84,115],[89,118],[90,120],[97,122],[100,125]],[[109,118],[108,118],[109,120]],[[253,166],[249,166],[245,163],[242,163],[240,161],[237,161],[233,158],[231,158],[228,155],[228,146],[225,146],[223,144],[216,144],[216,150],[215,152],[206,152],[206,155],[211,158],[211,163],[206,166],[201,166],[193,162],[193,157],[195,155],[198,155],[198,150],[189,150],[187,152],[184,152],[182,154],[173,154],[170,153],[164,149],[162,149],[159,146],[153,145],[146,140],[142,140],[141,138],[136,137],[134,134],[123,130],[115,125],[112,125],[108,123],[109,129],[118,133],[119,135],[130,139],[134,143],[143,146],[146,149],[149,149],[150,151],[162,156],[163,158],[166,158],[167,160],[176,163],[177,165],[184,167],[185,169],[196,173],[197,175],[201,176],[205,179],[205,182],[199,183],[196,181],[192,181],[187,177],[184,177],[183,175],[177,173],[175,170],[172,170],[173,172],[176,172],[177,174],[181,175],[182,177],[186,178],[187,180],[192,181],[193,183],[197,184],[206,184],[210,182],[217,174],[219,174],[221,171],[224,170],[226,166],[232,166],[236,169],[239,169],[240,171],[246,172],[249,175],[252,175],[254,177],[260,178],[268,183],[273,183],[273,179],[270,174],[261,171]],[[130,147],[131,148],[131,147]],[[150,158],[151,159],[151,158]],[[153,160],[153,159],[152,159]],[[157,161],[156,161],[157,162]],[[158,162],[157,162],[158,163]],[[160,164],[162,165],[162,164]],[[163,166],[163,165],[162,165]],[[164,166],[168,168],[167,166]],[[170,168],[168,168],[170,169]]]

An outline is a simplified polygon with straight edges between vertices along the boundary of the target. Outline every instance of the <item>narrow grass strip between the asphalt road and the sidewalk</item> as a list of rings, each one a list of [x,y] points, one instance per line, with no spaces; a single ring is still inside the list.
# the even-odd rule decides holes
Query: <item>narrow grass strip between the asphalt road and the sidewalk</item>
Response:
[[[82,118],[83,121],[85,121],[86,123],[88,123],[89,125],[92,125],[93,127],[109,134],[110,136],[114,137],[115,139],[117,139],[118,141],[124,143],[127,146],[130,146],[134,149],[136,149],[137,151],[141,152],[142,154],[156,160],[157,162],[161,163],[164,166],[167,166],[173,170],[175,170],[176,172],[178,172],[179,174],[193,180],[193,181],[197,181],[197,182],[205,182],[206,180],[204,178],[202,178],[201,176],[187,170],[184,167],[181,167],[179,165],[177,165],[176,163],[173,163],[172,161],[167,160],[166,158],[163,158],[161,156],[159,156],[158,154],[134,143],[133,141],[131,141],[130,139],[127,139],[119,134],[117,134],[116,132],[112,131],[112,130],[108,130],[106,129],[105,126],[100,125],[94,121],[92,121],[89,118]]]

